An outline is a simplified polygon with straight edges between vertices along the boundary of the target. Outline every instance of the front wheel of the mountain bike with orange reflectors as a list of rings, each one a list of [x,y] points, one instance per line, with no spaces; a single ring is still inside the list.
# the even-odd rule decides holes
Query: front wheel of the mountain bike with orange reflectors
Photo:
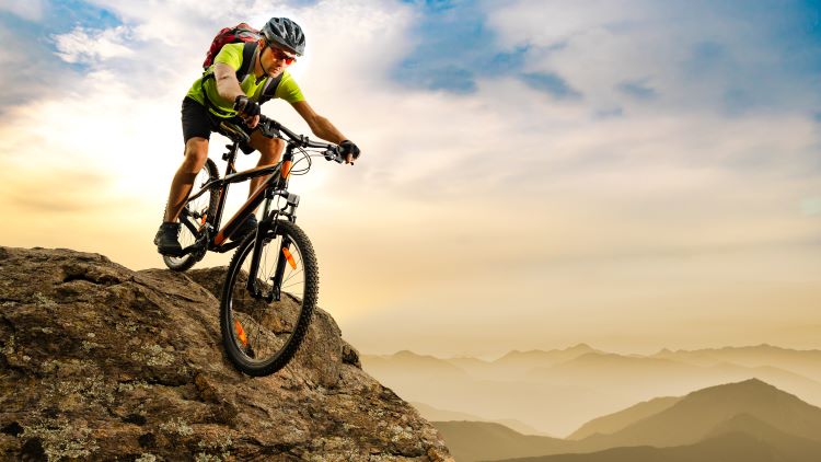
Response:
[[[290,221],[276,221],[263,238],[258,269],[251,274],[256,234],[234,253],[222,286],[220,330],[233,365],[248,376],[284,368],[311,323],[319,267],[308,235]],[[248,289],[248,278],[255,287]]]

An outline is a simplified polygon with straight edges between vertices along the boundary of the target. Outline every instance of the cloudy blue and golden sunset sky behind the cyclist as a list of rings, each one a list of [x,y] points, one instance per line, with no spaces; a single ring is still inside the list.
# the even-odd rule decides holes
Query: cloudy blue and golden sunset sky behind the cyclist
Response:
[[[270,16],[363,152],[291,182],[361,351],[821,348],[819,1],[0,0],[0,245],[162,267],[182,99]]]

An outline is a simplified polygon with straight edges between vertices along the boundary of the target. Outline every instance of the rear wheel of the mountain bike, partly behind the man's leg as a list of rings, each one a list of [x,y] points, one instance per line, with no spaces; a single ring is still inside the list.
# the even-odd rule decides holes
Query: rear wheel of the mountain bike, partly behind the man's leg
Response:
[[[217,164],[210,159],[206,160],[205,166],[194,178],[192,195],[199,192],[206,183],[219,178],[219,175]],[[183,249],[197,242],[205,229],[206,220],[217,210],[218,201],[217,190],[209,189],[183,207],[183,211],[180,212],[180,245]],[[203,249],[180,257],[163,255],[162,259],[169,268],[184,272],[203,259],[206,251],[207,249]]]

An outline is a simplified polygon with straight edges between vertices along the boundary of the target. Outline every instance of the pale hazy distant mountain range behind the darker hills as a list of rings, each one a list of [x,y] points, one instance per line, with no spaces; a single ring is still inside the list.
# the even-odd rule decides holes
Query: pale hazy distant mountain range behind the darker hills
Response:
[[[533,434],[574,439],[589,436],[587,429],[570,435],[586,421],[635,403],[752,378],[821,404],[821,350],[771,345],[641,356],[579,344],[510,351],[494,361],[412,351],[361,359],[365,370],[407,401],[485,421],[514,419]]]

